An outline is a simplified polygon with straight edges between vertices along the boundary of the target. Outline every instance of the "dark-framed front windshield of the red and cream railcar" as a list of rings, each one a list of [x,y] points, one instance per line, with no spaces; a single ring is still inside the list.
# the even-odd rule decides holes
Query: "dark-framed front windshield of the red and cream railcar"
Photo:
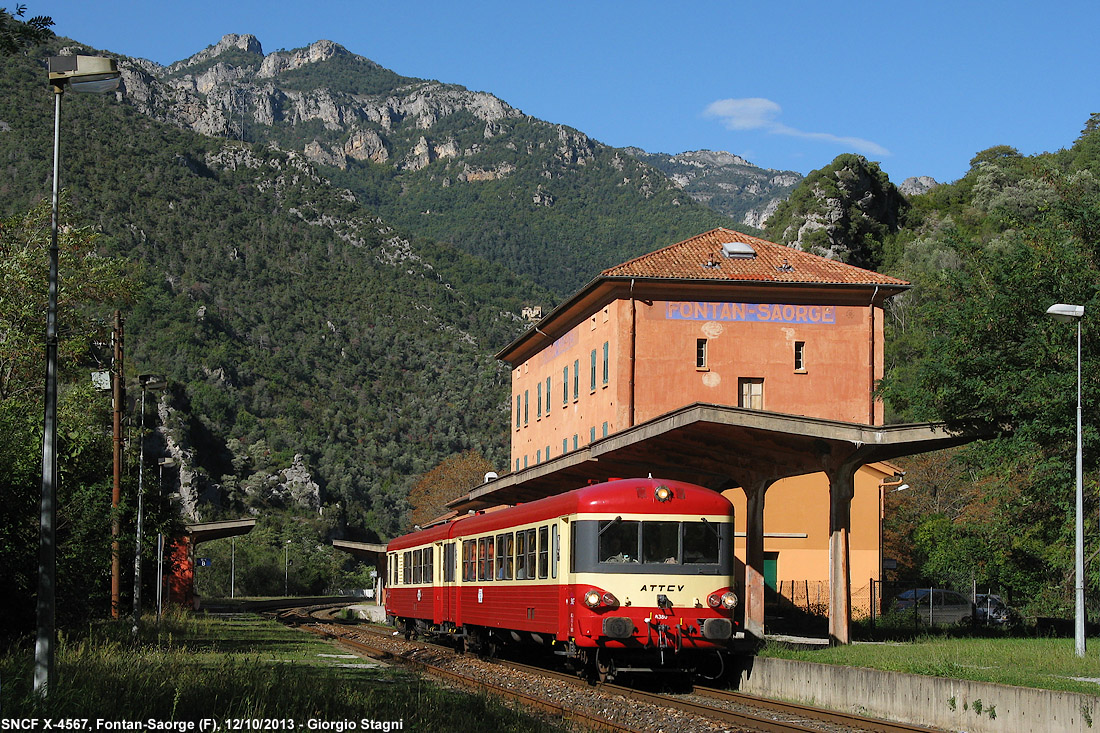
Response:
[[[732,560],[724,555],[733,554],[729,526],[702,518],[576,522],[573,567],[578,571],[667,572],[679,566],[703,575],[728,572]]]

